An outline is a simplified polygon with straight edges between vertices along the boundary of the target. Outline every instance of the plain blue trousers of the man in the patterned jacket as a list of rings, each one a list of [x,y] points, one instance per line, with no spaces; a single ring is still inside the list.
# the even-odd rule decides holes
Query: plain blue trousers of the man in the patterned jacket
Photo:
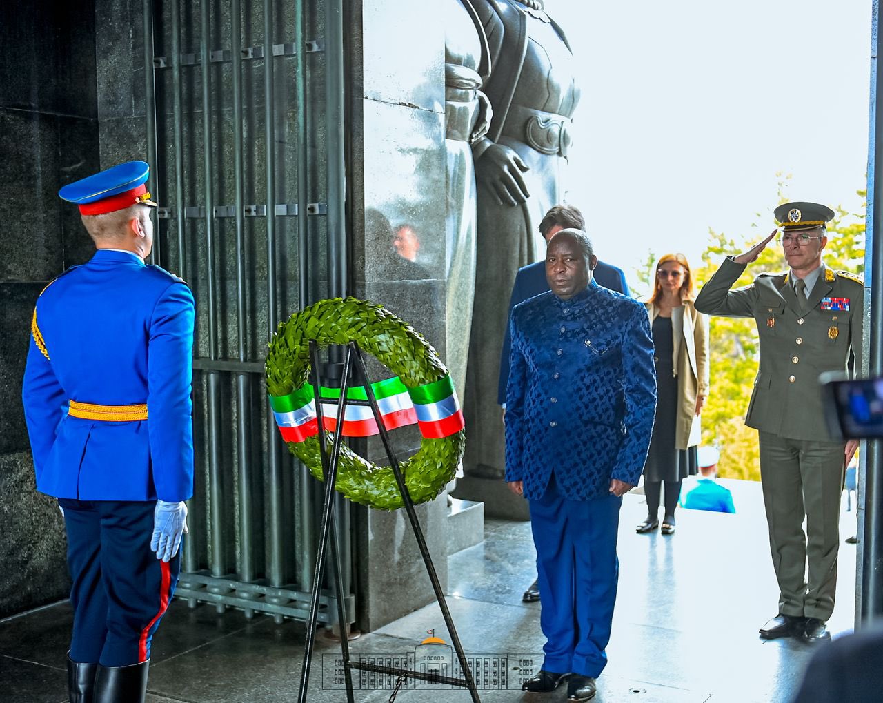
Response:
[[[570,500],[549,479],[530,501],[540,583],[540,627],[546,636],[543,669],[598,677],[616,602],[616,534],[622,497]]]

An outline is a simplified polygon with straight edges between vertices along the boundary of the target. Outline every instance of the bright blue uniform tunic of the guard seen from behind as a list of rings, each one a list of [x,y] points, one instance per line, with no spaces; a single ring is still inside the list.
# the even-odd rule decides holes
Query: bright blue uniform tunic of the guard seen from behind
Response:
[[[190,288],[134,254],[100,250],[52,281],[37,300],[22,387],[37,490],[191,497],[192,341]],[[147,420],[73,417],[68,400],[147,403]]]

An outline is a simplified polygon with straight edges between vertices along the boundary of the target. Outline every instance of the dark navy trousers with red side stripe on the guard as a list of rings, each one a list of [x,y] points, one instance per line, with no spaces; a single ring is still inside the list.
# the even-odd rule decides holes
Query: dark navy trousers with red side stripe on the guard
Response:
[[[156,502],[59,498],[58,505],[73,580],[71,659],[146,662],[181,569],[181,550],[165,563],[150,549]]]

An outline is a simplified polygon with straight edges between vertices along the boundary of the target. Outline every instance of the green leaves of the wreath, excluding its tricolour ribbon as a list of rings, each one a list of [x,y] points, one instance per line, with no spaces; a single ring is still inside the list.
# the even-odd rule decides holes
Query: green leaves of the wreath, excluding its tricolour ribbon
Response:
[[[356,298],[321,300],[280,323],[269,342],[267,389],[283,396],[301,388],[310,370],[310,340],[321,348],[351,340],[389,368],[411,389],[438,381],[448,370],[426,339],[381,305]],[[326,432],[330,448],[330,433]],[[422,438],[411,459],[401,462],[404,482],[414,503],[425,503],[442,492],[457,473],[463,457],[464,430],[441,439]],[[322,480],[319,436],[289,442],[289,451]],[[336,490],[355,503],[379,510],[403,505],[392,468],[378,466],[341,444]]]

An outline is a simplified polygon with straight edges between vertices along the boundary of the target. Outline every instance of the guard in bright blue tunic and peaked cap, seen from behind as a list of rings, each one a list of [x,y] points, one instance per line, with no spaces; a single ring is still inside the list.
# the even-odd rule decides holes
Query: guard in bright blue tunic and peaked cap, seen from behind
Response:
[[[64,186],[94,257],[43,289],[22,389],[37,490],[64,512],[77,703],[143,701],[192,496],[193,297],[145,265],[144,161]]]

